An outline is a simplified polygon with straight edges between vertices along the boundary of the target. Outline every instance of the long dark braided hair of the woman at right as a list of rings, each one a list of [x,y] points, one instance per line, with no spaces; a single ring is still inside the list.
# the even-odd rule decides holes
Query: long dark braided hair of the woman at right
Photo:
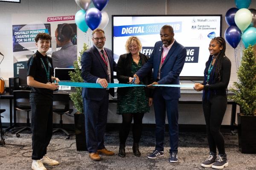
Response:
[[[212,72],[210,73],[210,78],[209,78],[209,84],[214,84],[216,82],[220,82],[221,81],[221,65],[222,65],[222,60],[225,57],[225,51],[226,51],[226,42],[224,40],[224,38],[222,37],[214,37],[212,38],[212,40],[216,41],[218,43],[218,45],[220,45],[222,47],[222,50],[220,51],[220,53],[218,54],[213,68],[212,68]],[[204,70],[204,85],[206,85],[207,82],[207,74],[208,74],[208,68],[210,66],[210,64],[212,63],[212,55],[209,56],[209,59],[207,61],[207,66]],[[203,91],[203,99],[204,99],[204,92]],[[207,97],[209,98],[211,93],[211,90],[208,90],[208,95]]]

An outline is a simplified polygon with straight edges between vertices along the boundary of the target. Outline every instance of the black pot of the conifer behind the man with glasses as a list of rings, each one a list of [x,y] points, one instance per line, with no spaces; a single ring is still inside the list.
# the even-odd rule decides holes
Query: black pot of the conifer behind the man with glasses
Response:
[[[74,119],[75,119],[75,133],[76,133],[76,150],[87,151],[84,114],[75,113]]]

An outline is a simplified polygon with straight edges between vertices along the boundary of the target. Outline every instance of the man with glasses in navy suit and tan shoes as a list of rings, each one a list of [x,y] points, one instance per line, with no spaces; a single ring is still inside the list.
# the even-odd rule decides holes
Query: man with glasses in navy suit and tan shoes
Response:
[[[116,63],[110,49],[104,48],[105,33],[97,28],[92,33],[93,47],[81,57],[84,82],[99,83],[103,88],[83,88],[82,96],[85,113],[86,143],[90,159],[99,161],[103,155],[114,155],[104,146],[104,133],[108,115],[108,94],[114,96],[114,89],[108,89],[113,83],[113,71]]]

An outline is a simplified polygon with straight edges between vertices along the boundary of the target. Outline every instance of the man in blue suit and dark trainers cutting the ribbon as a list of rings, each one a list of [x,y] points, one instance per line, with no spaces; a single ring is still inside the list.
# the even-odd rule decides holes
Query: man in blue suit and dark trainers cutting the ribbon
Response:
[[[174,39],[172,26],[165,25],[160,30],[162,41],[155,43],[154,51],[148,62],[134,74],[135,82],[140,82],[153,68],[154,82],[157,84],[179,84],[179,75],[182,71],[186,48]],[[154,86],[148,85],[151,88]],[[177,162],[178,152],[178,100],[180,88],[160,87],[154,89],[154,112],[156,121],[156,147],[149,159],[163,156],[163,139],[165,132],[166,113],[169,123],[170,162]]]

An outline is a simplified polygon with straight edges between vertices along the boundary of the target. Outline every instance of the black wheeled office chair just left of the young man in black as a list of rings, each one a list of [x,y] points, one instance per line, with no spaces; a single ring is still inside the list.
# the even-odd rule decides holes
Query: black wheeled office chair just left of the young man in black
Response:
[[[15,133],[14,130],[16,131],[16,136],[20,137],[20,132],[24,130],[30,130],[31,127],[29,125],[29,111],[31,111],[31,106],[29,103],[29,94],[30,91],[25,91],[25,90],[17,90],[13,91],[13,96],[14,96],[14,115],[16,119],[16,111],[26,111],[27,112],[27,122],[26,126],[23,127],[15,127],[12,129],[12,133]],[[16,120],[15,120],[16,122]]]

